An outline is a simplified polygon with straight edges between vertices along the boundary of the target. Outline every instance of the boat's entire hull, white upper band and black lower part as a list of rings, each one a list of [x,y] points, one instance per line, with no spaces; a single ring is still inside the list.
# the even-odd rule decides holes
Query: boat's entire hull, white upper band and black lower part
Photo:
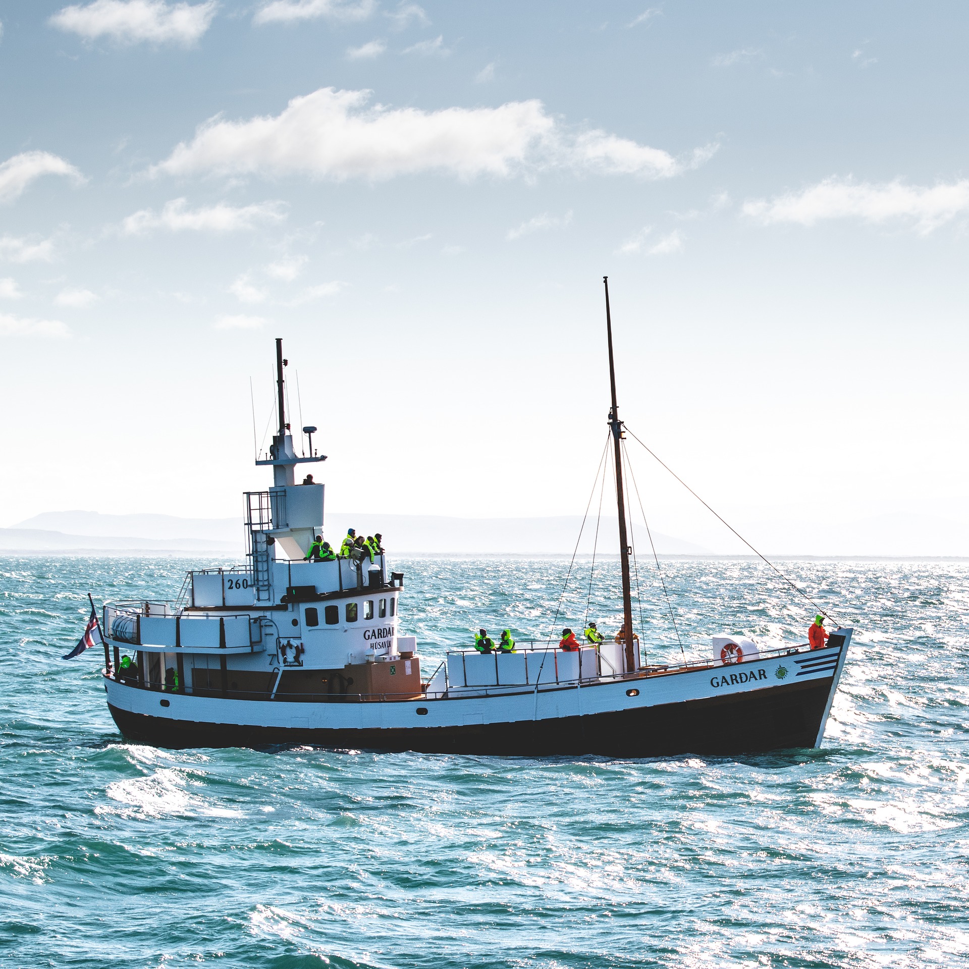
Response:
[[[109,709],[128,739],[172,748],[309,744],[530,757],[731,756],[818,746],[846,654],[847,643],[803,653],[799,660],[730,668],[737,671],[735,678],[743,672],[749,680],[726,689],[719,681],[730,672],[722,668],[712,675],[693,671],[503,697],[259,703],[273,707],[271,718],[265,710],[254,710],[254,703],[159,699],[157,692],[111,682]],[[785,676],[790,668],[791,678],[780,681],[778,668]],[[767,672],[774,675],[768,679]],[[684,696],[703,682],[718,684],[712,687],[714,695]],[[119,689],[139,694],[137,702],[127,696],[112,703],[111,694],[117,696]],[[630,697],[629,691],[636,695]],[[168,708],[163,711],[160,703]]]

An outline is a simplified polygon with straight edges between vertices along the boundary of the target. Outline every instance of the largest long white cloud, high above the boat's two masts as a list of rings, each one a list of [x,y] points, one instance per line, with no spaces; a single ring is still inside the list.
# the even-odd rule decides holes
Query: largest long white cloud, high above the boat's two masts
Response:
[[[602,131],[575,135],[540,101],[499,108],[368,107],[369,91],[321,88],[280,114],[244,121],[211,118],[151,173],[268,176],[307,174],[337,181],[414,172],[511,176],[547,168],[665,178],[696,168],[716,145],[683,160]]]

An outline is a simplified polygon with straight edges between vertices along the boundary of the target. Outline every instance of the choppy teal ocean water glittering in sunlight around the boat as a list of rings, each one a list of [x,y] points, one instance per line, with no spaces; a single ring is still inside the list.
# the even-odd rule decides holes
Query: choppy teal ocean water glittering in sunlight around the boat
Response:
[[[126,743],[103,653],[60,660],[86,593],[173,597],[203,564],[0,558],[0,964],[969,963],[969,564],[786,563],[857,629],[822,749],[646,761]],[[547,635],[568,562],[394,566],[429,672],[479,625]],[[651,661],[804,640],[763,566],[663,566],[679,641],[641,568]],[[615,628],[597,572],[556,626]]]

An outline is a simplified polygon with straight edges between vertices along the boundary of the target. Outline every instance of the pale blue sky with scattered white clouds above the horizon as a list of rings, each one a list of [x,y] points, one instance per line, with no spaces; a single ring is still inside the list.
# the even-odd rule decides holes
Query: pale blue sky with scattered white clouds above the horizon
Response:
[[[580,515],[608,275],[620,416],[752,541],[969,554],[964,4],[0,20],[0,524],[238,514],[277,336],[330,509]]]

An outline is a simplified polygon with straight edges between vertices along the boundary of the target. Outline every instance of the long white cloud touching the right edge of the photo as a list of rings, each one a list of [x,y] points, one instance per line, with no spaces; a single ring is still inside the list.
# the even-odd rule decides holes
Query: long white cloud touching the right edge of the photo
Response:
[[[743,214],[764,224],[813,226],[826,219],[859,219],[873,225],[898,222],[928,234],[969,212],[969,179],[931,187],[895,181],[873,184],[826,178],[800,192],[743,203]]]

